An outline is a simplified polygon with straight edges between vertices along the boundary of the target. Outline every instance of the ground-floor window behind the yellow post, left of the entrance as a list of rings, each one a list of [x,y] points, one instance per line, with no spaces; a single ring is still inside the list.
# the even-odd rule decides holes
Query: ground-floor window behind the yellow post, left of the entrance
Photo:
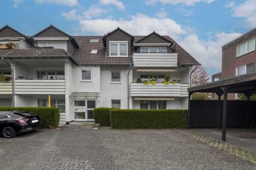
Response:
[[[39,99],[38,107],[48,107],[48,100]],[[65,100],[51,100],[51,107],[57,107],[60,109],[60,112],[66,112]]]

